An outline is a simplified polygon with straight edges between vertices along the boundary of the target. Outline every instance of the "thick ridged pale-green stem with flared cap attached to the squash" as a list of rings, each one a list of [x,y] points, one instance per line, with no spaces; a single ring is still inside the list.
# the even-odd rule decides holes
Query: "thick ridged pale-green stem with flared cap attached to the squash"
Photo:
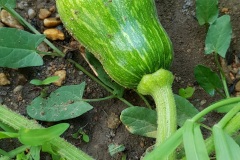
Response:
[[[138,85],[138,92],[151,95],[156,103],[158,129],[156,146],[170,137],[177,128],[176,105],[172,93],[173,75],[170,71],[160,69],[145,75]],[[174,159],[174,154],[168,159]]]

